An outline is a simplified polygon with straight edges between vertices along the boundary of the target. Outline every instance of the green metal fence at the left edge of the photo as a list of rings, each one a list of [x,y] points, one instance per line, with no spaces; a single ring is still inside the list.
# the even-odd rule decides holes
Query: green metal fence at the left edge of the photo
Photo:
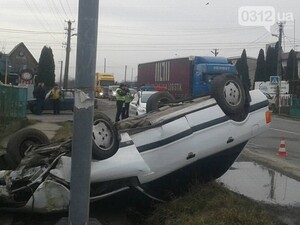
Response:
[[[26,118],[27,88],[0,83],[0,125]]]

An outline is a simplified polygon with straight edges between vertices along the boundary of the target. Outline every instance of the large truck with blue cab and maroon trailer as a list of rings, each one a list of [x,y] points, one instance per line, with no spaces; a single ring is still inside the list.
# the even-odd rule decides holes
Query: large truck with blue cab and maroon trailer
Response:
[[[237,74],[223,57],[191,56],[138,65],[139,86],[163,86],[177,99],[208,95],[212,79],[224,73]]]

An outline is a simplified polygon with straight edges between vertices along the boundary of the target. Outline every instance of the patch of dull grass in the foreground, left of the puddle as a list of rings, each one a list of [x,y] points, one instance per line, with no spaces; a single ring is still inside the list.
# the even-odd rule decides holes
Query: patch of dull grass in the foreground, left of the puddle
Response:
[[[282,225],[261,205],[216,182],[193,185],[185,196],[156,206],[145,225]]]

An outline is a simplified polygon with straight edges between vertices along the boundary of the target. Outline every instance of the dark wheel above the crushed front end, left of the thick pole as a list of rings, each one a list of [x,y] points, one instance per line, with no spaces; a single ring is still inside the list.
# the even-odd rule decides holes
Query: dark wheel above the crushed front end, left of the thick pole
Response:
[[[24,128],[17,131],[12,135],[7,142],[7,154],[11,162],[8,162],[11,166],[18,165],[22,158],[25,156],[25,152],[31,145],[44,145],[49,144],[48,137],[40,130],[34,128]],[[9,161],[9,160],[8,160]]]

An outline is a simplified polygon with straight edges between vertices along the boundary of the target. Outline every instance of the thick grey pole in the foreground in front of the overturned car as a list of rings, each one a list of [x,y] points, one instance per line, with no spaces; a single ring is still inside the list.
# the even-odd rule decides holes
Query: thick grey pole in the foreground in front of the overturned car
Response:
[[[89,219],[98,8],[99,0],[79,0],[69,219],[59,225],[100,224]]]

